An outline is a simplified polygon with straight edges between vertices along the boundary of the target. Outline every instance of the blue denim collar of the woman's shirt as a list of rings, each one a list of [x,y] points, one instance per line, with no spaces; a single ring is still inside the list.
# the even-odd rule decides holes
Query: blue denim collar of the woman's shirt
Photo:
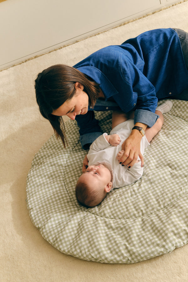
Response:
[[[117,94],[118,91],[113,86],[113,84],[107,79],[107,77],[103,74],[103,72],[96,67],[87,65],[77,68],[87,76],[90,76],[94,81],[96,81],[106,97],[106,100]]]

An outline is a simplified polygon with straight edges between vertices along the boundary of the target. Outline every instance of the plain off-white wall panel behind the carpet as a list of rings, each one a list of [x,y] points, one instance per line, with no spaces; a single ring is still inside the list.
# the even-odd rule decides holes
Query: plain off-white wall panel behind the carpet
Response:
[[[0,3],[0,69],[110,29],[177,0],[7,0]]]

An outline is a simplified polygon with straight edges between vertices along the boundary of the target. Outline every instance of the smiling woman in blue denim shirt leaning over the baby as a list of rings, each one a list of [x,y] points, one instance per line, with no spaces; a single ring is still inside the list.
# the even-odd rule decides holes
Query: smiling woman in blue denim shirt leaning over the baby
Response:
[[[120,164],[132,167],[140,153],[147,126],[158,115],[158,99],[188,100],[188,34],[180,29],[155,29],[121,45],[105,47],[74,67],[55,65],[35,80],[36,99],[44,118],[65,146],[61,116],[76,119],[84,149],[102,134],[95,111],[135,111],[134,127],[123,142]],[[88,107],[89,105],[89,107]],[[113,117],[115,117],[115,114]],[[84,160],[84,166],[87,159]]]

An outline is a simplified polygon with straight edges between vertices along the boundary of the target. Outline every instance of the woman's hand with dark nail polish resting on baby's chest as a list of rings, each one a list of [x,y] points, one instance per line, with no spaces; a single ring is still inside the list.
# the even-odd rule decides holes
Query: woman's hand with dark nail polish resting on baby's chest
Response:
[[[123,156],[119,159],[121,165],[128,165],[128,168],[132,167],[138,159],[141,160],[141,166],[144,166],[144,158],[140,153],[140,142],[142,134],[138,130],[133,130],[129,137],[123,142],[122,150],[124,150]]]

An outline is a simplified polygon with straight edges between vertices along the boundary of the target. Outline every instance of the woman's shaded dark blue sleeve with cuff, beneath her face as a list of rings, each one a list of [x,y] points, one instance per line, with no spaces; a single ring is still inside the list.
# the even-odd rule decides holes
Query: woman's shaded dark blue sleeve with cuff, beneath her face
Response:
[[[80,127],[81,146],[84,150],[87,150],[91,143],[102,135],[99,121],[95,118],[94,111],[88,111],[85,115],[76,115],[75,120]]]

